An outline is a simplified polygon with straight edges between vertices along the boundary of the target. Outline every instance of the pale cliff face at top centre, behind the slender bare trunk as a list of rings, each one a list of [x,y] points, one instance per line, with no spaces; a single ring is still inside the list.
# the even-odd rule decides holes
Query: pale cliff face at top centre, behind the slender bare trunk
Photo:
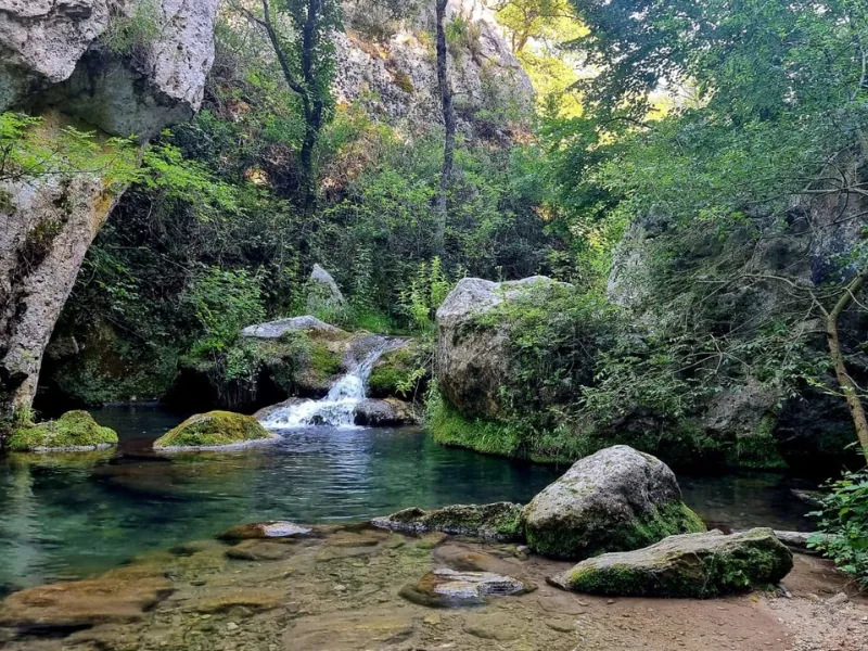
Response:
[[[392,122],[439,124],[432,3],[401,5],[400,20],[368,0],[345,3],[346,34],[337,37],[339,102],[360,102]],[[382,3],[383,5],[385,3]],[[395,12],[397,13],[397,12]],[[488,108],[529,115],[534,88],[513,55],[495,13],[481,0],[449,0],[447,21],[460,38],[449,48],[459,125]]]

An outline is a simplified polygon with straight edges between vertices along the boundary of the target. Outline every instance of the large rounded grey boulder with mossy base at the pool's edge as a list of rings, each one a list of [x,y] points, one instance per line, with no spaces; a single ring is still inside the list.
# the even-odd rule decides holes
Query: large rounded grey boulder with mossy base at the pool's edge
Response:
[[[527,544],[560,559],[639,549],[705,531],[669,468],[618,445],[577,461],[522,513]]]

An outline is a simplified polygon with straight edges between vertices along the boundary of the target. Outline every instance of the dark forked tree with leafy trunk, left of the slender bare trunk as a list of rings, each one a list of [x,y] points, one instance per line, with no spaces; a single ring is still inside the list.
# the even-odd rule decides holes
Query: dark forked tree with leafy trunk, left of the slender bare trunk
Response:
[[[317,203],[316,150],[323,127],[334,114],[331,85],[334,79],[333,33],[341,28],[337,0],[261,0],[261,15],[243,5],[237,8],[268,37],[283,78],[299,98],[305,135],[298,154],[302,202],[308,213]],[[281,18],[291,34],[283,34]]]

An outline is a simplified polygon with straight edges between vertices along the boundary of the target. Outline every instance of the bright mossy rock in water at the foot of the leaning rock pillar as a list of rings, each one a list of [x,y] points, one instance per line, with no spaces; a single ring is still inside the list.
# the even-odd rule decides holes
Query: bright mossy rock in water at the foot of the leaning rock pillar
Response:
[[[13,451],[88,451],[117,445],[117,433],[97,424],[87,411],[69,411],[55,421],[16,427],[9,439]]]

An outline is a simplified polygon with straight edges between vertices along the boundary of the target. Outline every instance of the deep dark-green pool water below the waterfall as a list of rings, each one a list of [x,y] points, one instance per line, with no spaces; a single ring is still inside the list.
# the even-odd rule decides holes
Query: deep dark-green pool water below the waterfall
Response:
[[[0,459],[0,592],[116,566],[241,523],[357,521],[420,506],[524,502],[563,469],[443,448],[418,429],[286,432],[276,446],[159,457],[181,418],[156,408],[94,413],[122,438],[93,456]],[[707,522],[804,529],[780,475],[681,477]]]

